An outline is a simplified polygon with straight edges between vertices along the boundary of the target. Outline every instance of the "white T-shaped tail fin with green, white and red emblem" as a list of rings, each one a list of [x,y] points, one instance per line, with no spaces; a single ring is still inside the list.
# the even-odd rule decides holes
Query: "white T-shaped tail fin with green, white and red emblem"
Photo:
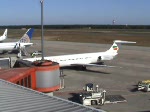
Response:
[[[133,43],[136,43],[136,42],[115,40],[113,45],[106,52],[117,53],[119,51],[118,45],[120,45],[120,44],[133,44]]]

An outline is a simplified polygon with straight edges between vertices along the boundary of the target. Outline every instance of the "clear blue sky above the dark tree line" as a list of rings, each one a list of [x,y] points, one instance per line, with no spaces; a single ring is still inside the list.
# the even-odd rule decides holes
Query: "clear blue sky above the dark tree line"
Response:
[[[44,0],[44,25],[150,25],[150,0]],[[0,25],[40,25],[40,0],[0,0]]]

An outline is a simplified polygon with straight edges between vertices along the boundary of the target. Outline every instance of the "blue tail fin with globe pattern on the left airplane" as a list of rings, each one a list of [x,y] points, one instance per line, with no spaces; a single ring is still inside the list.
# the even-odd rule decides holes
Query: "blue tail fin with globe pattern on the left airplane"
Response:
[[[30,43],[33,32],[34,32],[33,28],[28,29],[27,32],[22,36],[22,38],[18,42],[19,43]]]

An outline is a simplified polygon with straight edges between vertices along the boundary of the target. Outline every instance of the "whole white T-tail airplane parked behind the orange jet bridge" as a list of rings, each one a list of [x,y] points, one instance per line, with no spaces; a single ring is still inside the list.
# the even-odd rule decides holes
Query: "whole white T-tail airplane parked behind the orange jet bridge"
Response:
[[[51,57],[44,57],[44,59],[57,62],[59,63],[60,67],[81,66],[83,70],[86,69],[86,66],[114,67],[99,63],[101,63],[104,60],[112,60],[118,54],[119,47],[117,44],[123,43],[136,43],[136,42],[115,40],[111,48],[105,52],[51,56]],[[33,62],[36,60],[41,60],[41,57],[26,58],[23,60]]]

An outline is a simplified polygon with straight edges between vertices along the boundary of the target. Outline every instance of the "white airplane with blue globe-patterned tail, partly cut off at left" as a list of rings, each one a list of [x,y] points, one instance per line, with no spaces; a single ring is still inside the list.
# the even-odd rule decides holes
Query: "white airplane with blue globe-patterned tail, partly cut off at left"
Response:
[[[8,42],[8,43],[0,43],[0,51],[13,51],[18,50],[19,53],[21,51],[26,55],[25,47],[33,45],[33,43],[30,43],[30,40],[32,39],[34,29],[30,28],[27,30],[27,32],[22,36],[22,38],[17,42]]]

